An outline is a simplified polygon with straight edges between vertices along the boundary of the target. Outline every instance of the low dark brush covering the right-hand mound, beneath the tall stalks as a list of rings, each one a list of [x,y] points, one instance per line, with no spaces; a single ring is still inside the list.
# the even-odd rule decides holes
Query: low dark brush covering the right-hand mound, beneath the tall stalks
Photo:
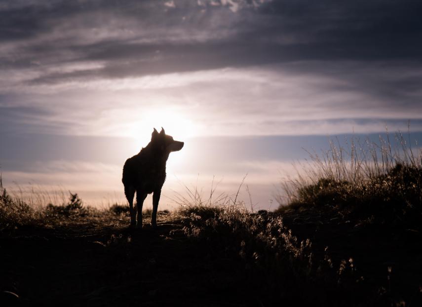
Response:
[[[420,166],[397,164],[386,174],[370,177],[361,184],[320,179],[299,188],[290,204],[279,211],[329,205],[345,216],[418,226],[422,218],[421,187]]]

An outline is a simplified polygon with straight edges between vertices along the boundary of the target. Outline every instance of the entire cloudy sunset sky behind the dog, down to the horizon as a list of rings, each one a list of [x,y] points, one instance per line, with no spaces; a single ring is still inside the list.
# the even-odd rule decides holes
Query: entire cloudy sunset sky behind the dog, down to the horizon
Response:
[[[160,207],[220,182],[274,209],[327,136],[422,132],[418,0],[2,0],[0,171],[10,190],[123,202],[124,160],[185,142]],[[208,192],[206,192],[208,191]],[[206,196],[205,196],[206,198]],[[148,207],[150,199],[146,200]]]

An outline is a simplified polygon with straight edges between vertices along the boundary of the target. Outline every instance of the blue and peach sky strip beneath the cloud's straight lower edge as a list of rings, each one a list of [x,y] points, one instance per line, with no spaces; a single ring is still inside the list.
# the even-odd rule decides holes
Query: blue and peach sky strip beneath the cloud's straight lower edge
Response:
[[[365,144],[368,140],[371,143],[380,144],[380,137],[387,140],[388,136],[393,151],[400,150],[397,132],[389,132],[388,135],[384,132],[332,136],[188,138],[185,140],[184,148],[187,151],[171,153],[167,161],[167,179],[162,190],[160,209],[178,208],[175,200],[180,195],[187,197],[187,188],[200,192],[202,199],[206,201],[212,185],[216,188],[214,196],[225,193],[234,199],[239,190],[237,200],[243,201],[248,210],[251,209],[251,201],[254,211],[274,210],[279,206],[276,196],[283,194],[281,184],[303,173],[302,164],[307,164],[312,160],[309,153],[327,153],[330,150],[330,140],[335,141],[337,147],[347,152],[350,150],[351,141],[360,141]],[[13,140],[17,144],[14,147],[11,140],[0,138],[2,144],[12,145],[3,151],[3,158],[8,162],[6,168],[0,165],[3,185],[12,195],[28,200],[38,198],[34,200],[35,204],[42,202],[45,205],[46,199],[47,202],[60,204],[67,201],[69,191],[77,193],[85,204],[98,208],[107,208],[115,203],[126,203],[121,184],[122,165],[126,156],[114,146],[118,140],[118,144],[129,151],[133,146],[132,138],[103,138],[101,140],[97,137],[73,137],[72,141],[72,137],[69,136],[67,138],[54,135],[46,137],[51,139],[44,140],[42,144],[27,144],[31,151],[24,154],[19,153],[21,143],[19,139]],[[59,142],[57,139],[62,140]],[[110,142],[109,139],[115,140]],[[403,139],[416,152],[421,150],[422,132],[403,133]],[[64,145],[65,143],[67,146]],[[68,159],[78,151],[78,147],[73,145],[80,144],[84,144],[83,148],[87,152],[79,160],[69,162]],[[59,145],[59,151],[56,149],[55,153],[45,155],[45,148],[52,149],[57,145]],[[68,152],[68,148],[73,148],[73,150]],[[133,154],[138,153],[140,149],[134,151]],[[100,159],[97,159],[97,155],[92,154],[96,151],[108,154],[103,154]],[[192,164],[190,161],[195,155],[200,155],[201,159],[196,159],[198,163]],[[52,159],[55,156],[61,156],[62,159]],[[21,161],[30,160],[31,157],[36,157],[37,163],[19,165]],[[345,157],[346,160],[348,158]],[[214,163],[207,163],[210,159]],[[10,178],[15,180],[10,180]],[[144,208],[151,209],[151,207],[152,196],[149,195]]]

